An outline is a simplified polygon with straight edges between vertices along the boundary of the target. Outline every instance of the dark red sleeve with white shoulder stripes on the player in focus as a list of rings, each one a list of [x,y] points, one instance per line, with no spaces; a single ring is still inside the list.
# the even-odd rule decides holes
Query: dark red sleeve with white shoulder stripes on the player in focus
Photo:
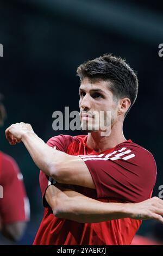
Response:
[[[97,198],[131,203],[151,198],[156,182],[156,164],[146,149],[121,147],[108,155],[80,157],[95,183]]]

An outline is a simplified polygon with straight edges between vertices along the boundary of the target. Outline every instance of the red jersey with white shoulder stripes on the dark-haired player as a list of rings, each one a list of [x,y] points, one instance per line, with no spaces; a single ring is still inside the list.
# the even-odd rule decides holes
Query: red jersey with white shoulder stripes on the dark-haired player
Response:
[[[75,190],[101,202],[137,203],[151,198],[156,181],[156,164],[149,151],[130,139],[101,153],[90,149],[87,135],[59,135],[47,144],[70,155],[78,155],[89,169],[96,190],[74,186]],[[131,218],[100,223],[78,223],[57,218],[45,199],[54,180],[40,172],[45,214],[34,245],[130,245],[141,221]]]

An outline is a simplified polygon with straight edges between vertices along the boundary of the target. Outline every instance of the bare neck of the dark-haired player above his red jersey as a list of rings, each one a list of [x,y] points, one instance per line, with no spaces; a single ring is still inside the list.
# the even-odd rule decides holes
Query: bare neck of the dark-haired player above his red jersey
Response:
[[[101,136],[101,132],[91,132],[87,136],[87,145],[89,148],[100,153],[107,149],[114,148],[116,145],[125,142],[126,138],[122,130],[123,123],[116,123],[111,127],[109,136]]]

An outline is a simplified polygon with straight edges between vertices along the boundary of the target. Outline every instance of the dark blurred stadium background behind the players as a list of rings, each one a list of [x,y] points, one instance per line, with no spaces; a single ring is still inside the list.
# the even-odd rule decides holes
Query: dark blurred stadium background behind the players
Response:
[[[0,1],[0,92],[8,119],[1,133],[1,150],[14,157],[24,176],[31,206],[31,221],[18,244],[31,244],[43,216],[39,169],[22,144],[11,147],[4,131],[24,121],[44,141],[78,131],[53,131],[52,113],[78,110],[77,66],[87,59],[113,53],[127,59],[137,71],[139,95],[124,122],[124,136],[154,155],[158,178],[153,195],[163,185],[162,4],[158,1],[4,0]],[[148,182],[148,177],[147,177]],[[152,232],[143,222],[138,234]],[[1,237],[1,244],[11,244]]]

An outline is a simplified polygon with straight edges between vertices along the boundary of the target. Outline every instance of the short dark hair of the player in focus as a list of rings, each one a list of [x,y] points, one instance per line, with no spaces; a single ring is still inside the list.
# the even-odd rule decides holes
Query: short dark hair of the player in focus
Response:
[[[104,54],[99,58],[88,60],[78,66],[77,75],[81,82],[86,77],[89,79],[101,78],[104,81],[111,82],[110,90],[116,99],[128,97],[131,106],[136,100],[138,92],[137,76],[135,71],[126,63],[126,60],[121,57]]]

